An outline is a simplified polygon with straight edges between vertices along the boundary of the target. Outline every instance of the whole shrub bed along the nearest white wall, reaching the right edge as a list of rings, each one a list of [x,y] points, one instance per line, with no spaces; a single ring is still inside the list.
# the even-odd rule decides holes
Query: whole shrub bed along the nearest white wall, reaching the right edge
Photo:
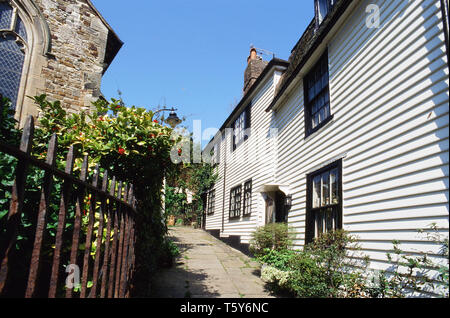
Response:
[[[367,271],[356,238],[341,230],[321,235],[301,251],[263,249],[257,259],[269,287],[296,297],[400,298],[413,292],[448,297],[448,237],[436,225],[420,232],[440,244],[441,261],[423,252],[405,253],[394,241],[387,254],[391,267]]]

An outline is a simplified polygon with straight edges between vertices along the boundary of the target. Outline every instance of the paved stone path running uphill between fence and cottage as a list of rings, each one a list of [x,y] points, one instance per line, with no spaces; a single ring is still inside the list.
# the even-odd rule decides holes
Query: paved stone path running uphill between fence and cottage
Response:
[[[203,230],[172,227],[169,237],[181,256],[155,275],[153,297],[267,298],[260,266]]]

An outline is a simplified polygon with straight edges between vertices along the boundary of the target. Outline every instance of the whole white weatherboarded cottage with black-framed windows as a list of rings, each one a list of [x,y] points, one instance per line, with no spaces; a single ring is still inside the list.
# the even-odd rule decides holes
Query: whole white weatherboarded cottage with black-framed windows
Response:
[[[301,248],[343,228],[378,269],[393,240],[437,255],[418,231],[449,231],[448,54],[445,0],[316,0],[289,63],[266,66],[208,145],[205,229],[246,248],[287,221]]]

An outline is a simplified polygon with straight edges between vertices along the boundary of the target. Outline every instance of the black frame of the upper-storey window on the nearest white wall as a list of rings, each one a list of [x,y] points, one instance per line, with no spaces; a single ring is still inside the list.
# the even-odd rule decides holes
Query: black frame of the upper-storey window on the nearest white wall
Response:
[[[326,71],[323,72],[323,69],[326,66]],[[320,70],[322,69],[322,70]],[[314,83],[313,86],[318,84],[317,77],[320,76],[320,81],[322,81],[322,88],[318,92],[314,92],[314,97],[309,100],[309,88],[311,86],[310,83]],[[323,76],[327,75],[326,85],[323,84]],[[312,79],[314,77],[314,79]],[[308,74],[303,79],[303,90],[304,90],[304,113],[305,113],[305,139],[316,131],[320,130],[323,126],[325,126],[328,122],[333,119],[333,114],[331,114],[331,103],[330,103],[330,76],[329,76],[329,65],[328,65],[328,50],[326,50],[320,59],[316,62],[314,67],[308,72]],[[321,107],[313,113],[314,103],[323,100],[323,104]],[[326,102],[328,100],[328,102]],[[328,105],[328,106],[327,106]],[[322,118],[320,122],[313,128],[313,120],[314,116],[321,116],[321,111],[327,112],[326,118]]]

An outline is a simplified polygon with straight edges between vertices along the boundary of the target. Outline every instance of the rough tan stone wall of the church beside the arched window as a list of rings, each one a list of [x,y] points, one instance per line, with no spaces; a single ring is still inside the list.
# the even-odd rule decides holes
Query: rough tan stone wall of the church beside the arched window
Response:
[[[30,66],[24,68],[26,81],[22,81],[23,107],[18,107],[17,114],[22,124],[27,115],[38,115],[27,95],[45,93],[50,100],[61,101],[69,112],[91,107],[92,101],[101,96],[101,79],[108,66],[105,55],[110,49],[108,35],[112,32],[89,1],[34,2],[48,25],[51,48],[43,54],[39,46],[46,39],[34,34]]]

